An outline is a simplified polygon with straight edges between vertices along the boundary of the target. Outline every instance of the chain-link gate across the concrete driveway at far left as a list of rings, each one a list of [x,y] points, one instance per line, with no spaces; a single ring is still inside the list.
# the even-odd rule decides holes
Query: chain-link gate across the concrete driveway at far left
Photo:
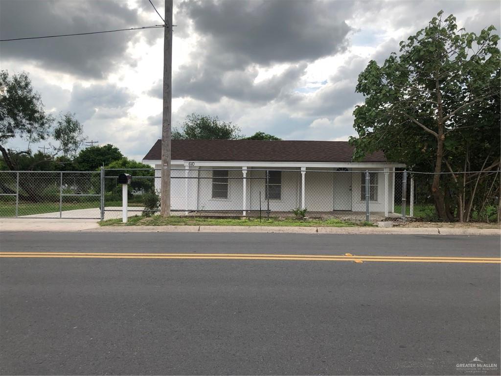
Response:
[[[101,173],[0,171],[0,217],[101,218]]]

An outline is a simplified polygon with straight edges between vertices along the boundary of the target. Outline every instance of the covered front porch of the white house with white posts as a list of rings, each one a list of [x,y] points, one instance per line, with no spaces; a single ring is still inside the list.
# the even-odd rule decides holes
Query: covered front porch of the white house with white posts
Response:
[[[157,176],[160,175],[160,165]],[[397,217],[395,163],[278,163],[182,161],[171,171],[171,210],[187,216],[248,216],[270,212],[308,217]],[[368,173],[368,176],[367,174]],[[156,179],[160,189],[160,179]],[[366,191],[366,186],[368,190]],[[368,195],[368,196],[367,196]]]

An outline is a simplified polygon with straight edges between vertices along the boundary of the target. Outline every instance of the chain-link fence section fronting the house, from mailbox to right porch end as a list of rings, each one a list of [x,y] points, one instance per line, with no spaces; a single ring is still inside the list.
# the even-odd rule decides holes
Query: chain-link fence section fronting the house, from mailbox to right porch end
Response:
[[[105,170],[106,218],[121,217],[117,201],[120,173],[132,175],[130,214],[150,215],[160,210],[161,170]],[[184,216],[287,217],[306,210],[304,214],[310,218],[382,220],[398,216],[392,212],[393,191],[387,195],[393,189],[392,178],[389,172],[385,177],[385,171],[343,167],[173,168],[171,212]]]

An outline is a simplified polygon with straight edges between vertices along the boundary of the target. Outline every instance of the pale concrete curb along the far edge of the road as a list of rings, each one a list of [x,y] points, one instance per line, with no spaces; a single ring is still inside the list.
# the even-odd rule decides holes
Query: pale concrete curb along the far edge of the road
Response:
[[[453,229],[436,227],[285,227],[285,226],[106,226],[89,232],[169,233],[277,233],[277,234],[361,234],[361,235],[497,235],[501,229]]]

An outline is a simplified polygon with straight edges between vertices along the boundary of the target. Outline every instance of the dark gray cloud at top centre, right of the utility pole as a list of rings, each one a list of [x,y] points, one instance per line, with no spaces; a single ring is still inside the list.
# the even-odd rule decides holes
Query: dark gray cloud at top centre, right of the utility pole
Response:
[[[352,2],[281,0],[181,3],[213,58],[228,66],[315,60],[343,50]],[[229,59],[228,59],[229,57]]]

